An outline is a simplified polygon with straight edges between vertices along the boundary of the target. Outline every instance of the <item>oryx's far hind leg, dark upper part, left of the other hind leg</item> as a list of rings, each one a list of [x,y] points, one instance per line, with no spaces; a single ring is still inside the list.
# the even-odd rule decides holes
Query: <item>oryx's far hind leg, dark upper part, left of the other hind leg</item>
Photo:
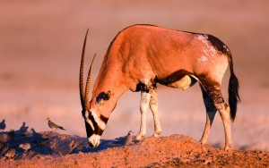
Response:
[[[200,84],[200,88],[201,88],[202,93],[203,93],[204,106],[206,109],[206,122],[205,122],[205,126],[204,126],[204,133],[203,133],[203,136],[200,140],[200,143],[202,145],[207,145],[208,135],[209,135],[210,129],[212,127],[215,113],[217,112],[217,108],[213,104],[212,98],[208,96],[208,94],[205,92],[205,90],[201,86],[201,84]]]

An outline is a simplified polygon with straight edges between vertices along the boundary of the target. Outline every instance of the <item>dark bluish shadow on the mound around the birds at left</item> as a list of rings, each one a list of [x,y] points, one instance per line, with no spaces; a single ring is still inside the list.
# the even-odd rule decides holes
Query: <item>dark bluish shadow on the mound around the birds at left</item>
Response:
[[[121,147],[122,145],[116,142],[119,139],[102,139],[100,146],[96,148],[91,148],[88,145],[86,138],[81,138],[78,136],[59,134],[52,131],[36,132],[31,129],[31,133],[22,134],[20,130],[11,130],[9,132],[0,132],[0,135],[7,135],[9,139],[6,142],[1,142],[0,145],[0,158],[5,159],[30,159],[33,157],[40,157],[44,155],[69,155],[98,152],[100,150],[105,150],[109,147]],[[20,144],[30,143],[30,149],[27,151],[22,149]],[[135,142],[134,142],[135,143]],[[15,154],[12,156],[6,156],[8,150],[14,148]]]

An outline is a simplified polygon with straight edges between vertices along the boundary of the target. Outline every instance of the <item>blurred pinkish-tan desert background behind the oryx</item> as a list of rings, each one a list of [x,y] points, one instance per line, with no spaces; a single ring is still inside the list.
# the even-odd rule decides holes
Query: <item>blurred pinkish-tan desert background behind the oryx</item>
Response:
[[[133,24],[154,24],[212,34],[230,47],[242,100],[231,126],[233,148],[268,151],[268,6],[265,0],[1,1],[0,122],[5,120],[5,130],[18,130],[26,122],[36,131],[45,131],[49,130],[46,118],[50,117],[66,129],[57,132],[86,137],[78,88],[86,29],[90,30],[85,74],[97,54],[93,83],[118,31]],[[226,100],[229,77],[227,71],[222,82]],[[182,91],[158,85],[158,90],[161,136],[183,134],[199,140],[205,123],[199,86]],[[127,91],[120,97],[102,139],[115,139],[128,130],[138,133],[139,103],[139,92]],[[150,110],[147,116],[147,136],[151,136]],[[224,145],[218,113],[209,144]]]

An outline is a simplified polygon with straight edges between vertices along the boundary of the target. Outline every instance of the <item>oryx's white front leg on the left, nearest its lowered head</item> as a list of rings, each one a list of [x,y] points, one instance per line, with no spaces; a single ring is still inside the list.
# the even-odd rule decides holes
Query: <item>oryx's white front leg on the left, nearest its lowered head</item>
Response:
[[[145,137],[146,132],[146,112],[149,108],[149,103],[151,99],[151,94],[141,91],[141,102],[140,102],[140,112],[141,112],[141,124],[140,124],[140,131],[136,135],[136,140],[141,140]]]

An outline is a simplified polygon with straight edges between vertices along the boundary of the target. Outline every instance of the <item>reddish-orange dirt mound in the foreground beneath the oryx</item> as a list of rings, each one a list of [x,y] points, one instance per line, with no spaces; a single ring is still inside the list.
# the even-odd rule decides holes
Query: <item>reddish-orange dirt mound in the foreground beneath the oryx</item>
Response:
[[[183,135],[147,138],[132,145],[116,144],[117,139],[102,140],[100,147],[88,147],[87,140],[56,132],[39,133],[42,140],[22,137],[10,140],[1,146],[2,167],[176,167],[176,166],[269,166],[269,153],[265,151],[225,152],[213,147],[204,147],[194,139]],[[30,140],[32,140],[30,142]],[[31,146],[24,151],[19,144],[28,141]],[[4,157],[4,152],[15,148],[13,158]]]

